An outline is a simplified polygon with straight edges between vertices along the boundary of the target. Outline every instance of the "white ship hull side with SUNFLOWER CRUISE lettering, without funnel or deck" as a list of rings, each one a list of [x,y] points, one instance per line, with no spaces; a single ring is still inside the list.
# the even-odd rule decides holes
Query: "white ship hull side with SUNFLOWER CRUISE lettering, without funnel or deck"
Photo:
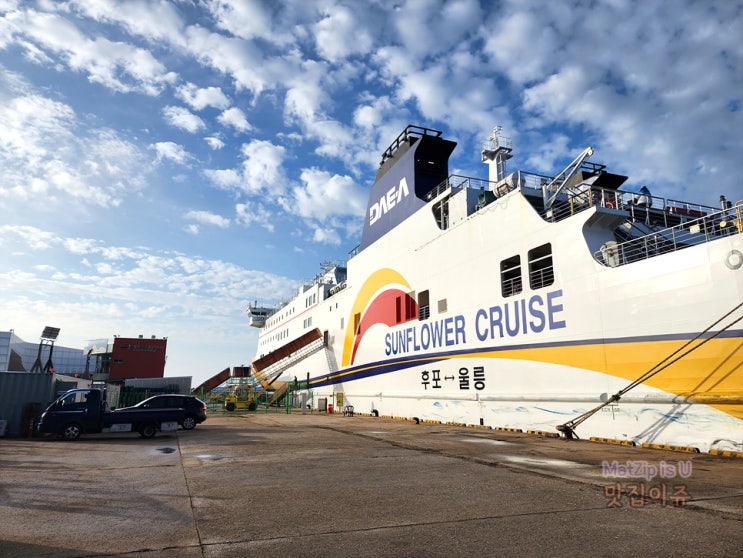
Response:
[[[609,266],[596,252],[626,217],[613,206],[550,221],[516,188],[457,221],[464,195],[438,198],[446,227],[434,197],[349,260],[342,289],[301,291],[267,322],[264,340],[324,333],[283,370],[312,403],[557,433],[620,393],[576,434],[743,450],[740,231]]]

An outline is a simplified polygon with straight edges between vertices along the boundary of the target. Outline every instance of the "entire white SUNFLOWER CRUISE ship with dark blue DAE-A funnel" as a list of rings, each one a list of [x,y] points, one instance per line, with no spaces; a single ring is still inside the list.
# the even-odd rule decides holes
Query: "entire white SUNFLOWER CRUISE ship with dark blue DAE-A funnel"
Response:
[[[360,245],[280,307],[251,305],[256,378],[339,412],[743,450],[743,200],[554,176],[450,176],[408,126],[382,155]],[[740,193],[739,193],[740,194]]]

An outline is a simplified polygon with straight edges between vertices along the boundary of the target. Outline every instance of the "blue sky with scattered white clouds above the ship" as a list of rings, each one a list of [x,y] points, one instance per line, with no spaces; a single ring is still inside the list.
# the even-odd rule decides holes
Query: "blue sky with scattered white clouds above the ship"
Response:
[[[168,337],[248,364],[245,308],[360,239],[409,123],[486,177],[583,148],[654,195],[743,198],[743,2],[0,0],[0,330]]]

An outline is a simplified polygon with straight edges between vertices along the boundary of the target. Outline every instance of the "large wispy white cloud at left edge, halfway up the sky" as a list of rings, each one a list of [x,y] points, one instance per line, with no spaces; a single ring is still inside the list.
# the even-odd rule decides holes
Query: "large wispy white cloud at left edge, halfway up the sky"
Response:
[[[117,206],[144,187],[148,169],[137,146],[111,129],[85,129],[68,105],[15,87],[24,90],[0,89],[0,182],[10,194],[0,207],[41,196],[42,213],[63,200],[68,212],[70,201]]]

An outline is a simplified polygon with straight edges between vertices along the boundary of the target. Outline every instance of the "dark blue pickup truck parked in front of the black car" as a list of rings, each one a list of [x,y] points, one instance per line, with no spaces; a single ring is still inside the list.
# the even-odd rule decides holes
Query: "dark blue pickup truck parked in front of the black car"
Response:
[[[159,430],[176,430],[183,422],[184,414],[184,409],[109,411],[105,390],[73,389],[46,408],[38,430],[42,434],[61,434],[66,440],[100,432],[139,432],[143,438],[152,438]]]

